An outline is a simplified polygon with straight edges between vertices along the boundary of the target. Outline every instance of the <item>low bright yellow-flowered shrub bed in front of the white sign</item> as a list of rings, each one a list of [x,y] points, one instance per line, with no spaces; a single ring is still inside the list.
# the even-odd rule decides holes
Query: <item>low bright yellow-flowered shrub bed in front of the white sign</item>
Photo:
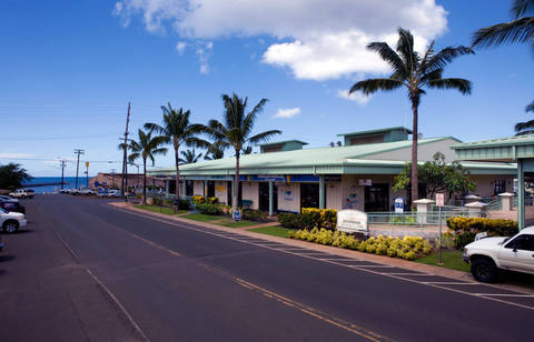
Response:
[[[404,239],[383,237],[369,238],[365,241],[358,241],[353,235],[332,231],[326,229],[299,230],[288,232],[291,239],[304,240],[326,245],[339,247],[360,252],[387,255],[390,258],[403,258],[414,260],[418,256],[429,254],[432,244],[428,240],[419,237],[405,237]]]

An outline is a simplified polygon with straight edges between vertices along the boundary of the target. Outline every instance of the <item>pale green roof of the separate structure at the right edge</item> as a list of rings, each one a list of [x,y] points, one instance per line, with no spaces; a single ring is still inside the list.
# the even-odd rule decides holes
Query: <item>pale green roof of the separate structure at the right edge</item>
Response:
[[[534,134],[465,142],[452,147],[457,160],[516,161],[534,158]]]

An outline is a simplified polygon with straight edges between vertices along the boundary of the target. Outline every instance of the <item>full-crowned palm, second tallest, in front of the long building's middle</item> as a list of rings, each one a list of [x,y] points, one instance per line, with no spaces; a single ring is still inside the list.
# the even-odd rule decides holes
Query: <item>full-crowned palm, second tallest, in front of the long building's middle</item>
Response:
[[[233,210],[237,210],[239,191],[239,157],[245,144],[256,144],[268,141],[273,135],[281,134],[279,130],[269,130],[255,135],[253,133],[255,121],[264,111],[267,99],[261,99],[250,112],[245,114],[248,98],[241,99],[236,93],[233,97],[222,94],[225,105],[224,124],[217,120],[209,120],[206,127],[207,134],[217,141],[222,149],[233,147],[236,152],[236,172],[234,178]]]

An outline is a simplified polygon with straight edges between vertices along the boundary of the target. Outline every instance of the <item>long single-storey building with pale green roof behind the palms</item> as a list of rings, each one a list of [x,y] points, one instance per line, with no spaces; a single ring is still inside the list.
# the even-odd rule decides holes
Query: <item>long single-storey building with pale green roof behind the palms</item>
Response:
[[[299,212],[301,208],[356,209],[366,212],[393,211],[396,198],[407,203],[407,191],[394,191],[394,178],[411,161],[412,132],[390,128],[339,134],[344,145],[304,149],[298,140],[260,147],[263,153],[240,158],[239,201],[250,208],[275,212]],[[418,140],[419,162],[436,152],[454,161],[452,137]],[[516,165],[513,163],[463,162],[476,184],[475,193],[493,197],[512,192]],[[150,171],[169,177],[175,169]],[[217,197],[231,203],[235,158],[181,165],[186,195]]]

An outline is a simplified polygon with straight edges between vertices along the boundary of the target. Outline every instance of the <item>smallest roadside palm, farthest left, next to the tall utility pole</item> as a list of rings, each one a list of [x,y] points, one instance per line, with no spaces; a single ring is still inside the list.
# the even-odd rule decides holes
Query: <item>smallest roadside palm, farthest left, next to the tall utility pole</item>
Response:
[[[155,162],[155,155],[166,154],[167,148],[161,148],[166,143],[166,137],[152,137],[154,131],[147,130],[144,132],[139,130],[139,141],[131,140],[129,148],[131,154],[128,155],[129,162],[135,162],[138,158],[142,159],[142,203],[147,204],[147,159]]]

